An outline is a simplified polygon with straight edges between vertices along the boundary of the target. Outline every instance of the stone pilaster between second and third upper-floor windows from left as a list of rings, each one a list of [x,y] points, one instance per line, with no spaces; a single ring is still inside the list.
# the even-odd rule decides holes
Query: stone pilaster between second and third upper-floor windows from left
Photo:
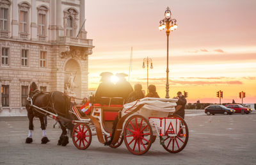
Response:
[[[37,40],[37,13],[36,13],[36,0],[32,0],[31,3],[31,25],[30,25],[30,36],[31,36],[31,40]]]

